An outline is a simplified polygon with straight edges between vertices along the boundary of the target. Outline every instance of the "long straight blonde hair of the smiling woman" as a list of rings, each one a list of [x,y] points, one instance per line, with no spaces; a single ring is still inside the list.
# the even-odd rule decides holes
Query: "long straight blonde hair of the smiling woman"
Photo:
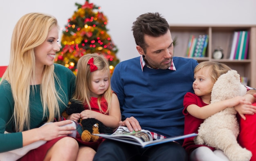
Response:
[[[30,83],[35,82],[34,48],[43,44],[49,30],[58,27],[55,17],[43,13],[28,13],[18,20],[11,38],[10,62],[2,80],[11,85],[14,100],[14,122],[16,131],[24,131],[30,127],[29,95]],[[43,115],[52,122],[56,115],[60,116],[58,100],[60,100],[54,85],[54,65],[45,65],[40,85],[40,96],[43,105]],[[56,78],[57,79],[57,78]],[[58,80],[58,79],[57,79]],[[32,88],[34,93],[34,85]]]

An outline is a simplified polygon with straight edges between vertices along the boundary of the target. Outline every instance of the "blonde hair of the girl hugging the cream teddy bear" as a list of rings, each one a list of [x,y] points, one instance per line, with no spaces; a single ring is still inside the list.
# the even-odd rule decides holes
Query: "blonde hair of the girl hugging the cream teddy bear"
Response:
[[[231,68],[223,63],[218,63],[215,61],[203,61],[199,63],[194,70],[194,74],[198,72],[199,70],[209,68],[211,76],[211,80],[213,83],[216,82],[216,80],[219,78],[220,75],[227,73]]]

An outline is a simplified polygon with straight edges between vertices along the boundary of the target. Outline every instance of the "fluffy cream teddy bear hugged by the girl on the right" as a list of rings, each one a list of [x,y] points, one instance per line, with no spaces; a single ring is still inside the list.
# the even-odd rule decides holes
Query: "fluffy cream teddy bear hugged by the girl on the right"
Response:
[[[213,85],[211,104],[246,93],[236,70],[222,74]],[[238,142],[239,125],[234,107],[228,107],[204,120],[195,137],[195,144],[205,144],[220,149],[230,161],[249,161],[252,152],[242,148]]]

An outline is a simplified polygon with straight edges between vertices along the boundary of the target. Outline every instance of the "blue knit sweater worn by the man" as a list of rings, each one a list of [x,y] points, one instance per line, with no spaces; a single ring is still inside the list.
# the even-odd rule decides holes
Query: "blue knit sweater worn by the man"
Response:
[[[135,117],[142,129],[166,137],[183,135],[183,98],[193,92],[194,59],[173,57],[174,70],[141,70],[139,57],[122,61],[111,78],[117,93],[122,120]]]

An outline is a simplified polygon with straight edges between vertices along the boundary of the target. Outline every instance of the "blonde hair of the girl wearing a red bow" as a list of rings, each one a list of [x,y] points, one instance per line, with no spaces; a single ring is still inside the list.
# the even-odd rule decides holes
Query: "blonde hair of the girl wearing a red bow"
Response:
[[[92,73],[90,72],[90,65],[88,61],[93,58],[93,64],[97,66],[97,70],[102,72],[108,72],[108,89],[98,97],[98,105],[101,113],[109,113],[110,103],[112,98],[112,89],[110,86],[110,69],[108,60],[102,54],[85,54],[77,62],[77,75],[76,75],[76,89],[74,92],[73,99],[81,102],[82,104],[88,104],[91,109],[91,87],[92,87]],[[101,98],[104,97],[108,103],[108,109],[104,112],[101,109]]]

